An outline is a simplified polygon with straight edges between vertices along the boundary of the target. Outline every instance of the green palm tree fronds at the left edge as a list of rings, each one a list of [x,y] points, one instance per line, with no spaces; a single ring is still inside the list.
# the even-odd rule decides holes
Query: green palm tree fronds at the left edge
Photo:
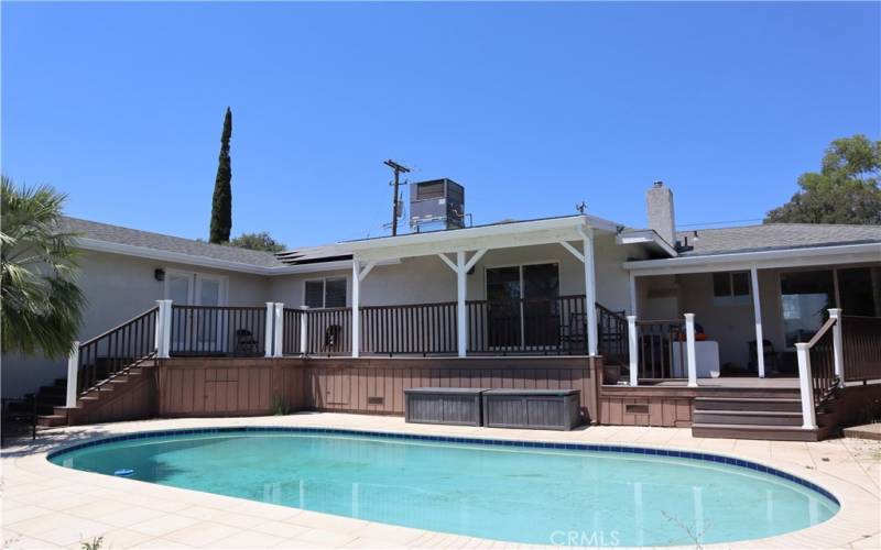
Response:
[[[0,310],[3,352],[67,356],[85,298],[76,284],[76,235],[62,231],[65,196],[2,176]]]

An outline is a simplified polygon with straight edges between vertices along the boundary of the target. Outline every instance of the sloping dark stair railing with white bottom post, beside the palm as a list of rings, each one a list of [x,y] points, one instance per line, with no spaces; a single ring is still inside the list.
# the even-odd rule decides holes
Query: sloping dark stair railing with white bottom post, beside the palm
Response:
[[[68,407],[74,406],[79,394],[155,355],[157,312],[159,308],[149,309],[102,334],[76,344],[69,365],[74,372],[68,367],[68,384],[73,377],[73,386],[67,392]]]

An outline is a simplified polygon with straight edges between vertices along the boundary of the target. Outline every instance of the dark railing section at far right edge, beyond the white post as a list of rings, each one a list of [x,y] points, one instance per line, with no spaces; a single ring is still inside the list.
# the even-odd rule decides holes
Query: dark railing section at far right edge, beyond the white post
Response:
[[[841,316],[845,380],[881,378],[881,317]]]

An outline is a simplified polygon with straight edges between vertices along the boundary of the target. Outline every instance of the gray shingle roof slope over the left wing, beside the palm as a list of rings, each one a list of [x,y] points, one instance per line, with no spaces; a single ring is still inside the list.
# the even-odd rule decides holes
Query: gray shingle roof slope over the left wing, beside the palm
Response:
[[[222,260],[259,267],[279,267],[284,265],[270,252],[222,246],[220,244],[151,233],[150,231],[140,231],[77,218],[65,217],[62,223],[64,226],[64,231],[78,233],[79,237],[84,239],[141,246],[163,252],[176,252],[191,256]]]

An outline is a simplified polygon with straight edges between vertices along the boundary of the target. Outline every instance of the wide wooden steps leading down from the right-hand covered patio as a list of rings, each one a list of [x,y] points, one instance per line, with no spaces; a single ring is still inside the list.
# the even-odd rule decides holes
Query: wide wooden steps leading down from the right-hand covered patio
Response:
[[[738,395],[739,394],[739,395]],[[696,438],[817,441],[835,407],[830,394],[817,411],[817,429],[802,428],[802,399],[796,388],[741,389],[695,397],[692,435]]]

